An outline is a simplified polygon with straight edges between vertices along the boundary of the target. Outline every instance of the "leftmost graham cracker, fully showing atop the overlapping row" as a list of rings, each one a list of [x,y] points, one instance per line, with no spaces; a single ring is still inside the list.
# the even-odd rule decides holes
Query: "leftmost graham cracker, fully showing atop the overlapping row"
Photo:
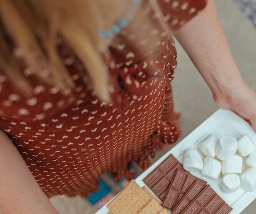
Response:
[[[129,185],[107,204],[107,208],[112,214],[124,214],[143,193],[145,191],[134,180],[131,180]]]

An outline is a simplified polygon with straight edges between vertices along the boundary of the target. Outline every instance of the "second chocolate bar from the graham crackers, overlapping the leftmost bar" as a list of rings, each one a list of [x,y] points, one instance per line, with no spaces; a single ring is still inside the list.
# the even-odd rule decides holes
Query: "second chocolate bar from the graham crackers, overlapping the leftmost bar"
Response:
[[[191,175],[189,172],[177,169],[162,206],[172,211],[195,181],[206,185],[205,181]]]

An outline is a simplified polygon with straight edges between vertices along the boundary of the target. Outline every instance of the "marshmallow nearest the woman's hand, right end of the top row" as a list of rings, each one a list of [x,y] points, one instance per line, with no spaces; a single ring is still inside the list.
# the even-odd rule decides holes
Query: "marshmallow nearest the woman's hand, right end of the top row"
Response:
[[[255,144],[249,135],[244,135],[238,141],[237,150],[242,157],[248,156],[255,149]]]

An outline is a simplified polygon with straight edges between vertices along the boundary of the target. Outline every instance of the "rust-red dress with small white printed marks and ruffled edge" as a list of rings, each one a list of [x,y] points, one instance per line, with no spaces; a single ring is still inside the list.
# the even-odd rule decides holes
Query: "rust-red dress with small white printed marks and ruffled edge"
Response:
[[[174,31],[205,6],[205,0],[159,2]],[[85,68],[64,42],[59,42],[59,54],[75,83],[74,91],[59,92],[22,63],[33,96],[25,97],[6,75],[0,75],[0,128],[48,197],[88,196],[97,190],[98,178],[105,172],[112,172],[117,180],[132,179],[131,162],[146,169],[148,154],[154,156],[156,148],[177,141],[180,131],[171,88],[177,54],[173,38],[164,31],[153,32],[161,33],[162,41],[154,54],[143,59],[125,41],[111,48],[109,73],[116,81],[109,85],[110,104],[101,102],[83,83],[79,73]],[[139,42],[147,45],[147,39]],[[14,56],[22,61],[19,49]],[[150,63],[157,68],[154,72],[149,72]]]

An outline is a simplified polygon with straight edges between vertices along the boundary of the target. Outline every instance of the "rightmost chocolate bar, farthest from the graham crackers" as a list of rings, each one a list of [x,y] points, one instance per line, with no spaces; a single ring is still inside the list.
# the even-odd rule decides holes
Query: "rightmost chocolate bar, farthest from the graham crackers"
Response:
[[[182,214],[228,214],[232,208],[213,191],[210,185],[198,194]]]

